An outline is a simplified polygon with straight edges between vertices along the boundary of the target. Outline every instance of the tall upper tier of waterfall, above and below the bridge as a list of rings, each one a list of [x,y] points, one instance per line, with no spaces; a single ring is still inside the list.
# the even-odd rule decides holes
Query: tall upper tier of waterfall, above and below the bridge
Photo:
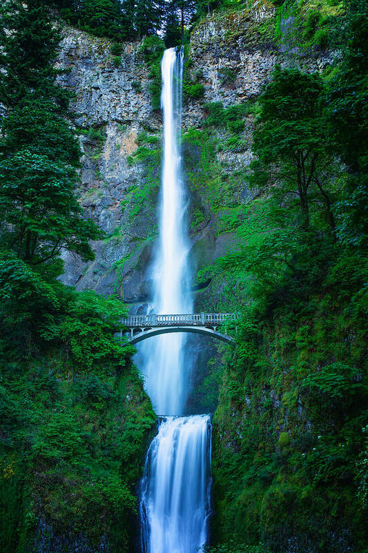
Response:
[[[186,195],[180,156],[184,48],[165,50],[161,62],[164,155],[159,205],[159,240],[152,267],[153,310],[191,313],[190,243],[186,233]],[[162,335],[139,346],[145,386],[159,415],[183,415],[189,371],[184,361],[186,335]]]

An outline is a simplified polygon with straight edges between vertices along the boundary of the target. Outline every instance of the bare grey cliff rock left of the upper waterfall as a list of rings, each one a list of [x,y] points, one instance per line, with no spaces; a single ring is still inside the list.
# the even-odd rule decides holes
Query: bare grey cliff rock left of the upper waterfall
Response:
[[[63,280],[77,290],[117,292],[126,301],[142,299],[147,290],[142,288],[144,283],[136,276],[137,270],[129,266],[136,267],[139,259],[144,259],[148,221],[135,218],[134,224],[129,224],[122,205],[128,189],[144,178],[142,165],[129,166],[127,156],[137,149],[139,132],[156,131],[160,125],[159,114],[151,110],[148,69],[139,44],[126,44],[122,62],[115,67],[108,41],[72,28],[64,32],[59,67],[66,70],[60,77],[61,84],[75,93],[72,111],[84,153],[77,195],[86,214],[106,236],[93,244],[93,263],[66,256]],[[138,89],[135,83],[140,84]],[[130,265],[122,275],[126,285],[122,292],[118,264],[127,256],[131,256]]]

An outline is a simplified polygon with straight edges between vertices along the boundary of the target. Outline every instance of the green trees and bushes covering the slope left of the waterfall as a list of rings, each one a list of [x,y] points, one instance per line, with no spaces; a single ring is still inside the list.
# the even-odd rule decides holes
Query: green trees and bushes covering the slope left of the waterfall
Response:
[[[57,281],[61,252],[93,259],[100,233],[74,194],[50,11],[10,0],[0,15],[0,548],[127,548],[155,417],[114,338],[122,303]]]

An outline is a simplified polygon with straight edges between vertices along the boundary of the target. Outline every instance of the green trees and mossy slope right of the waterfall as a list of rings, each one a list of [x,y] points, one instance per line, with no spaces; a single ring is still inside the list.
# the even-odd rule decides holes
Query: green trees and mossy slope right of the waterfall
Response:
[[[258,198],[218,262],[245,304],[214,417],[213,532],[234,552],[367,547],[367,6],[347,8],[333,77],[277,68],[260,97]]]

